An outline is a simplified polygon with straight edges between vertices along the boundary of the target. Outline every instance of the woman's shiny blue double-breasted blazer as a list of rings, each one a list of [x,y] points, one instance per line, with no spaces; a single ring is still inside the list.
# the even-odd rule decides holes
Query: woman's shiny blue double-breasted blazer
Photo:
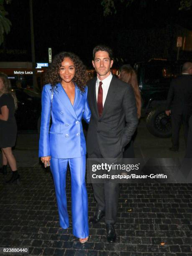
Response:
[[[60,83],[56,84],[51,110],[51,85],[42,91],[39,157],[69,159],[86,154],[82,118],[89,123],[91,112],[87,101],[87,87],[81,92],[75,85],[74,105]],[[52,125],[49,131],[50,115]]]

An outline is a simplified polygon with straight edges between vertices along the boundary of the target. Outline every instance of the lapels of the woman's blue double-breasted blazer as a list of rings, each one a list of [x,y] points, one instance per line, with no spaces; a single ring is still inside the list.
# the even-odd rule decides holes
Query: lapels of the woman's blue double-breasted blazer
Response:
[[[72,106],[69,97],[67,96],[67,93],[63,89],[62,85],[60,83],[57,84],[57,88],[54,90],[54,94],[56,97],[59,98],[59,100],[63,103],[64,107],[67,108],[67,110],[72,114],[72,116],[77,119],[77,115],[75,113],[74,107]],[[75,99],[74,104],[76,104],[78,100],[78,92],[77,88],[75,86]]]

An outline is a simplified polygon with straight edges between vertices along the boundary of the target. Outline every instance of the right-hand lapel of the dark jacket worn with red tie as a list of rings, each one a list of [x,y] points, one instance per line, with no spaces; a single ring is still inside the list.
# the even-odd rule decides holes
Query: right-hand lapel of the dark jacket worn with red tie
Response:
[[[109,90],[108,90],[108,94],[105,100],[105,104],[103,106],[103,110],[102,110],[102,115],[105,115],[105,113],[107,112],[107,110],[110,108],[110,106],[113,104],[113,98],[115,97],[115,93],[117,90],[116,84],[115,84],[115,77],[112,77],[112,80],[110,82],[110,86],[109,86]]]

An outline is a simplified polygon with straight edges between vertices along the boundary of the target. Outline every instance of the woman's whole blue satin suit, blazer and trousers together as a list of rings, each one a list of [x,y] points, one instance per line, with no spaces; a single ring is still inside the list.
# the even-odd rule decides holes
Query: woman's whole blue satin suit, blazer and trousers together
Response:
[[[51,172],[54,178],[60,225],[69,227],[65,192],[67,163],[72,175],[72,225],[73,234],[86,238],[89,233],[87,190],[85,186],[86,143],[82,118],[89,123],[91,112],[87,101],[87,87],[82,93],[75,85],[74,105],[60,83],[54,89],[51,110],[51,85],[42,91],[41,131],[39,157],[51,156]],[[49,132],[50,115],[52,125]]]

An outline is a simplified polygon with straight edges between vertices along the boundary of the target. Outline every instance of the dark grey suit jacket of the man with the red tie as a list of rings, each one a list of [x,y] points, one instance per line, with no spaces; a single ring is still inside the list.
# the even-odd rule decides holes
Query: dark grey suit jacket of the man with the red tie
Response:
[[[97,110],[97,77],[88,82],[91,119],[87,131],[87,153],[99,146],[104,158],[115,158],[131,141],[138,124],[136,100],[131,85],[113,76],[101,117]]]

